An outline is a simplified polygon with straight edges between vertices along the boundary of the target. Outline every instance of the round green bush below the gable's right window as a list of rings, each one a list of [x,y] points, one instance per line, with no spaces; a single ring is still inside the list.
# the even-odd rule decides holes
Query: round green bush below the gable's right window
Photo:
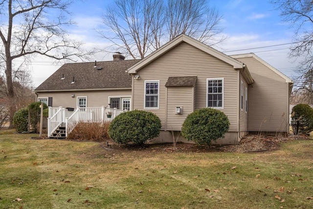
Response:
[[[227,116],[216,109],[203,108],[189,114],[182,124],[181,135],[197,144],[210,145],[223,138],[229,129]]]

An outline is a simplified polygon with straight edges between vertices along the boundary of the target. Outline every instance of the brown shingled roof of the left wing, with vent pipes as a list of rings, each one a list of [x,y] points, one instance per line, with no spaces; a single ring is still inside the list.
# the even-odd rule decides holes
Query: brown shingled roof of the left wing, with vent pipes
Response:
[[[125,72],[140,60],[120,60],[64,64],[47,78],[35,91],[131,88],[131,76]],[[98,70],[102,68],[101,70]],[[64,79],[62,78],[64,75]],[[72,80],[75,82],[71,84]]]

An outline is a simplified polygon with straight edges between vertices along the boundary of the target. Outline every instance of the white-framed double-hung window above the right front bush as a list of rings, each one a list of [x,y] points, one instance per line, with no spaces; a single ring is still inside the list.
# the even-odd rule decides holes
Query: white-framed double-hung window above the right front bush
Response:
[[[224,78],[207,79],[206,106],[212,108],[224,108]]]

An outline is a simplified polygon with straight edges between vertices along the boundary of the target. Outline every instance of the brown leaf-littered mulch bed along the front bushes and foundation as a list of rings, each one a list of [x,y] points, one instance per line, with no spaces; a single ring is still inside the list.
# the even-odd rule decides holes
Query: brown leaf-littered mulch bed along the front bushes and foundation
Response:
[[[114,153],[125,152],[142,152],[149,155],[149,153],[164,153],[164,152],[260,152],[269,151],[279,148],[279,142],[294,140],[294,139],[308,139],[307,135],[289,135],[288,137],[267,137],[248,135],[241,139],[238,145],[211,145],[199,146],[193,143],[178,142],[176,147],[172,143],[160,144],[145,144],[144,146],[121,145],[114,143],[112,140],[101,143],[101,146],[107,150],[112,150]]]

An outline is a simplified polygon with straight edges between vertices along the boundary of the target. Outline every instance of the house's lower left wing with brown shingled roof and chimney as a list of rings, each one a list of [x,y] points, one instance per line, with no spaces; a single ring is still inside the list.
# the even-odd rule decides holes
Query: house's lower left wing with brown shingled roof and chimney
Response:
[[[51,107],[101,107],[131,110],[132,78],[125,72],[139,60],[68,63],[35,89],[37,101]]]

